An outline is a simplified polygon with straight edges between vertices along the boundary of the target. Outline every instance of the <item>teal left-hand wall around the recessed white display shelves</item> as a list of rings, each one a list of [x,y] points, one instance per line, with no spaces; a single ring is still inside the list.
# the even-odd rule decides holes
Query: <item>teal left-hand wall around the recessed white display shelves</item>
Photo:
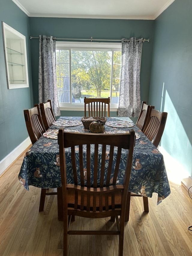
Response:
[[[26,36],[29,88],[7,89],[2,26],[0,25],[0,161],[29,135],[23,110],[33,106],[29,17],[11,0],[0,1],[0,20]]]

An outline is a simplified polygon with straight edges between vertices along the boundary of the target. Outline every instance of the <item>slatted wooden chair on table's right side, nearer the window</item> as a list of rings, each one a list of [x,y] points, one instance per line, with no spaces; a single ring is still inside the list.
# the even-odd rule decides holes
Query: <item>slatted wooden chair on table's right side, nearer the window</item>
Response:
[[[146,122],[152,108],[155,108],[155,106],[147,105],[146,101],[142,102],[140,114],[136,122],[137,127],[139,127],[141,131],[143,131],[146,126]]]

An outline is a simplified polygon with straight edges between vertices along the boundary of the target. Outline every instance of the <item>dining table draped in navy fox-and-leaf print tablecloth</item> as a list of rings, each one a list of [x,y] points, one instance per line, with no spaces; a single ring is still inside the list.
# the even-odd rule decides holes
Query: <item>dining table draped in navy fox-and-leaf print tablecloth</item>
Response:
[[[65,131],[90,133],[91,131],[83,126],[81,119],[78,116],[59,117],[43,136],[27,150],[18,175],[18,179],[24,188],[27,190],[29,190],[29,186],[47,189],[57,188],[58,204],[61,206],[62,189],[57,140],[58,129],[63,127]],[[159,204],[171,193],[161,152],[129,117],[107,117],[103,133],[128,133],[130,129],[135,131],[136,142],[128,190],[146,197],[152,197],[153,193],[157,193],[157,204]],[[78,148],[76,148],[76,151],[78,152]],[[123,183],[125,173],[124,153],[122,152],[117,184]],[[70,148],[65,149],[65,157],[67,183],[72,183]],[[109,151],[106,150],[106,161],[108,159]],[[84,170],[86,171],[86,163]],[[113,179],[113,174],[111,178]],[[62,220],[60,206],[58,205],[58,219]]]

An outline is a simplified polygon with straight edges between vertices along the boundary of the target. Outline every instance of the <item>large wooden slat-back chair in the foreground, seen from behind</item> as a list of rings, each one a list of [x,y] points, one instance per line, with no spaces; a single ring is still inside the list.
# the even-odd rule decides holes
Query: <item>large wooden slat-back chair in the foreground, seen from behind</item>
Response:
[[[64,128],[61,128],[58,133],[58,143],[64,215],[63,255],[67,256],[67,234],[119,235],[119,255],[123,255],[126,201],[135,144],[134,130],[131,129],[129,134],[79,134],[65,132]],[[86,144],[86,166],[83,155],[84,144]],[[101,150],[98,150],[99,144],[102,145]],[[106,145],[110,145],[109,160],[106,160]],[[71,148],[73,184],[67,184],[65,148],[68,147]],[[94,147],[94,160],[92,160],[92,147]],[[118,185],[116,179],[122,149],[128,149],[129,153],[125,153],[124,182]],[[79,152],[79,160],[77,160],[77,152]],[[98,165],[98,162],[101,164]],[[115,167],[112,167],[113,164]],[[93,165],[94,170],[91,170]],[[69,230],[70,220],[74,219],[75,215],[85,218],[111,217],[111,221],[115,221],[116,218],[118,230]]]

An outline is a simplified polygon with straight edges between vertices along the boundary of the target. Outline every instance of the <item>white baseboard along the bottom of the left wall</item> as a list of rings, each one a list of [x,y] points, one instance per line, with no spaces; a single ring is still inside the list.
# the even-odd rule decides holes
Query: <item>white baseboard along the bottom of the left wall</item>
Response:
[[[5,158],[0,161],[0,175],[9,167],[23,151],[26,150],[31,144],[29,137],[26,138],[19,146],[17,146],[13,151],[11,151]]]

